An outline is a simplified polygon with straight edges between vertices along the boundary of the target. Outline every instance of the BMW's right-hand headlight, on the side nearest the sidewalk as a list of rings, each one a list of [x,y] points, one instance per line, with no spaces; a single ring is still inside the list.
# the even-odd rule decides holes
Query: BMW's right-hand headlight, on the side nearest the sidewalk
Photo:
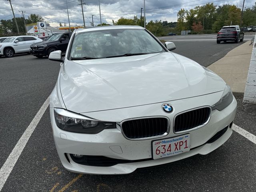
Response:
[[[229,106],[232,100],[233,100],[233,94],[232,94],[231,88],[230,86],[226,85],[220,100],[212,106],[212,110],[217,109],[221,111],[227,106]]]

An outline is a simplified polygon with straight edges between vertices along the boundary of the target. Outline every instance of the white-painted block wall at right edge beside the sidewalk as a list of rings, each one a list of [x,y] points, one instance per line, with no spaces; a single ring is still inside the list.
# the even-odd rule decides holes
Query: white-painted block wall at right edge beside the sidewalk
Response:
[[[246,86],[244,90],[244,100],[247,103],[256,103],[256,34],[254,40],[251,41],[253,45],[252,57],[248,70],[248,76],[246,81]]]

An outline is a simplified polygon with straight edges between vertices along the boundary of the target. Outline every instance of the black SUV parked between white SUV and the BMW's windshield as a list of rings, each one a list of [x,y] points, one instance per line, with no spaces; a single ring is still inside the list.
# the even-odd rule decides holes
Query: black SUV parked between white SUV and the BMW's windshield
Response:
[[[30,46],[30,53],[38,58],[49,56],[51,52],[61,50],[66,52],[72,32],[56,33],[46,41],[35,43]]]

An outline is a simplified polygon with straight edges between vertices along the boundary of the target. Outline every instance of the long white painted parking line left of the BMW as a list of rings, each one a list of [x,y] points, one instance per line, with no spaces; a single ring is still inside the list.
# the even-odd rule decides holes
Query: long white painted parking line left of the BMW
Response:
[[[20,157],[20,154],[22,153],[24,147],[26,146],[30,136],[34,132],[38,122],[42,118],[45,110],[47,109],[50,101],[50,96],[46,99],[40,110],[37,112],[36,116],[28,126],[28,128],[25,130],[23,135],[21,136],[20,140],[18,140],[16,146],[12,150],[11,154],[8,156],[6,162],[4,162],[4,165],[0,169],[0,191],[2,190],[4,183],[8,179],[10,173],[12,172],[12,169],[14,165],[16,164],[18,158]]]

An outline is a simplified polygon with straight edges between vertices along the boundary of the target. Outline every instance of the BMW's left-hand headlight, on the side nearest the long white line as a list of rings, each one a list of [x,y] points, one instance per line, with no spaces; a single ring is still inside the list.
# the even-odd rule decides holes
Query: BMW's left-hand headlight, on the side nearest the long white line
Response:
[[[96,134],[116,128],[115,122],[102,122],[59,108],[54,109],[54,118],[58,128],[69,132]]]

